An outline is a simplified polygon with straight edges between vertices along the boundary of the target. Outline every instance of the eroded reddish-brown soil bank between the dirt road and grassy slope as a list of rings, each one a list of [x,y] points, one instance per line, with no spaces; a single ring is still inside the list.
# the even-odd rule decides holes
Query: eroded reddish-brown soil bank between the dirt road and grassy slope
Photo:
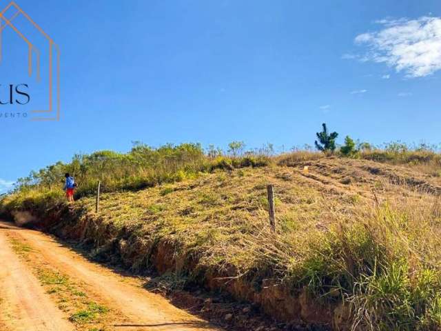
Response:
[[[95,215],[80,216],[67,208],[52,210],[37,218],[43,221],[32,222],[34,226],[61,239],[82,243],[100,261],[123,265],[136,273],[149,270],[165,274],[178,270],[181,274],[198,274],[192,278],[199,285],[208,290],[227,292],[238,301],[255,303],[276,320],[297,325],[320,325],[320,330],[327,330],[334,323],[342,325],[341,307],[321,305],[310,299],[305,290],[293,292],[265,279],[256,286],[255,279],[237,278],[235,270],[195,272],[197,257],[176,261],[176,245],[172,241],[150,241],[139,237],[134,229],[119,229],[101,223]]]

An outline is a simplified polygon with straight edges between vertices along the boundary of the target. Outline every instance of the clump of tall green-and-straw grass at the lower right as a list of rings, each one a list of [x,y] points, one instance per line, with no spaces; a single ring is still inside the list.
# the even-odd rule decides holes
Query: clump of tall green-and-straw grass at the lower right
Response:
[[[225,261],[243,256],[244,275],[263,272],[293,289],[306,286],[320,301],[342,303],[345,323],[336,328],[440,330],[439,198],[366,204],[348,216],[334,214],[325,231],[256,227],[223,250]]]

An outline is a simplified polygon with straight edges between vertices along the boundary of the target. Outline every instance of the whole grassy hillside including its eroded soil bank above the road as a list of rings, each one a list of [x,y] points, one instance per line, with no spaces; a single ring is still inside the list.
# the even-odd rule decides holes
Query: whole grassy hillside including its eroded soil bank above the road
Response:
[[[220,288],[285,321],[438,330],[439,155],[357,157],[203,159],[205,168],[191,177],[103,194],[99,215],[92,196],[66,209],[59,193],[41,187],[6,197],[2,208],[31,210],[101,259],[153,268],[175,285]],[[275,233],[267,183],[276,192]]]

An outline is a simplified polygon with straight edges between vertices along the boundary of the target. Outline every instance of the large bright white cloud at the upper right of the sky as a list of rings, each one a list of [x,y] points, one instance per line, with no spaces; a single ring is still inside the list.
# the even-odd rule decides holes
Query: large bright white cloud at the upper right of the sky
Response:
[[[441,69],[441,17],[382,19],[377,32],[359,34],[367,46],[361,61],[387,63],[407,77],[424,77]]]

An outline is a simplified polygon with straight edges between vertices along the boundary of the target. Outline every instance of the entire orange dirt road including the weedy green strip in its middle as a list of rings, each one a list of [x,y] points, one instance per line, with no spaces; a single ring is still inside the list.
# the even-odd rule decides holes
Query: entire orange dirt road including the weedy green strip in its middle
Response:
[[[0,221],[0,330],[216,330],[50,236]]]

